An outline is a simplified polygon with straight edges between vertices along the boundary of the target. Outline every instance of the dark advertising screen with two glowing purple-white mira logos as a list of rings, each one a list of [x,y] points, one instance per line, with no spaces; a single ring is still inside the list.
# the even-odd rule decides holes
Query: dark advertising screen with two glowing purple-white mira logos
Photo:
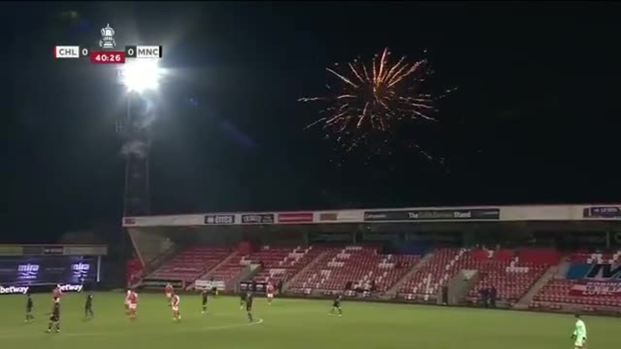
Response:
[[[2,286],[84,284],[97,281],[97,261],[75,256],[0,258]]]

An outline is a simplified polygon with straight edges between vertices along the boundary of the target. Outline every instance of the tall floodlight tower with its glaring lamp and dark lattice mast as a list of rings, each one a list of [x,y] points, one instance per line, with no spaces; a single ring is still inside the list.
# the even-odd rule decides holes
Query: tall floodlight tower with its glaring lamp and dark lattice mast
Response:
[[[132,59],[119,70],[119,82],[127,89],[127,114],[117,124],[125,156],[125,217],[150,214],[149,150],[150,127],[132,110],[132,101],[158,88],[161,71],[157,60]]]

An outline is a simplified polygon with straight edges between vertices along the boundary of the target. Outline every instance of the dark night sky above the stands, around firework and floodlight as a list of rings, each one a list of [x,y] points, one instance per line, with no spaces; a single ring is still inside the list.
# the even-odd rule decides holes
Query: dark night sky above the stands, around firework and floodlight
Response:
[[[619,201],[621,6],[612,3],[2,2],[6,209],[0,242],[119,224],[124,91],[107,66],[55,61],[107,23],[161,44],[154,214]],[[137,39],[137,38],[140,39]],[[417,132],[445,163],[335,153],[325,66],[384,47],[457,91]],[[426,53],[425,53],[426,52]],[[6,56],[8,54],[8,56]],[[335,160],[338,159],[338,160]],[[340,161],[345,159],[344,162]]]

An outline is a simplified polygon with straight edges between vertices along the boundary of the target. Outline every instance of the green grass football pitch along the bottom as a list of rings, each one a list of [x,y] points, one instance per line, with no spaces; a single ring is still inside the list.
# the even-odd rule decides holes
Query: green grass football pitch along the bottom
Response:
[[[94,294],[85,321],[85,294],[65,294],[61,332],[45,333],[50,294],[35,294],[35,321],[25,323],[25,296],[0,297],[2,348],[24,349],[561,349],[573,348],[572,315],[343,302],[343,317],[329,316],[332,301],[255,298],[248,322],[238,297],[211,297],[201,314],[199,296],[182,295],[182,322],[172,321],[163,294],[140,294],[138,319],[127,319],[124,294]],[[589,349],[621,348],[621,319],[585,316]]]

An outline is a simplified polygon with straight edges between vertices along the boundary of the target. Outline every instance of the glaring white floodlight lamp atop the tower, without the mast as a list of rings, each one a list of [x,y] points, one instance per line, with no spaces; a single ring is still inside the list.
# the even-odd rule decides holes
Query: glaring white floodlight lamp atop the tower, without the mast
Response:
[[[149,89],[157,89],[160,84],[162,70],[157,59],[132,59],[125,63],[120,73],[121,83],[127,91],[143,93]]]

